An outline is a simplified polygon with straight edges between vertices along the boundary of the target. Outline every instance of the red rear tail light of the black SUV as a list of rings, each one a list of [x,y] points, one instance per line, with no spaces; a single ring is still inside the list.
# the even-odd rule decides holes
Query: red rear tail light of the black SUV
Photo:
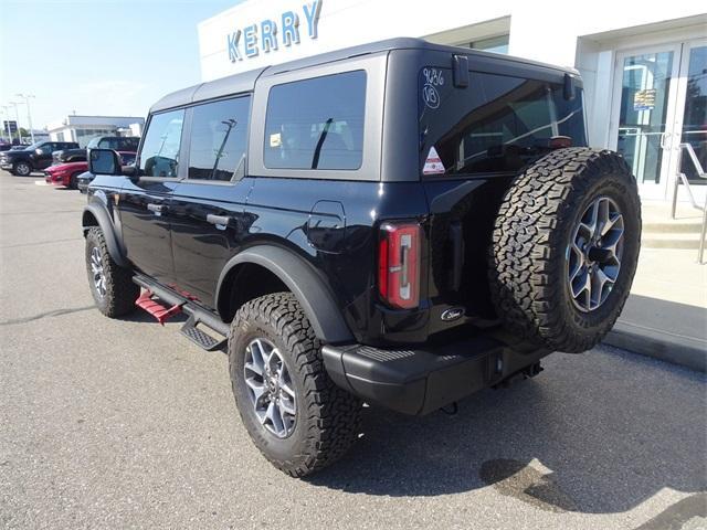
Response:
[[[378,250],[378,292],[392,307],[420,305],[420,225],[384,223]]]

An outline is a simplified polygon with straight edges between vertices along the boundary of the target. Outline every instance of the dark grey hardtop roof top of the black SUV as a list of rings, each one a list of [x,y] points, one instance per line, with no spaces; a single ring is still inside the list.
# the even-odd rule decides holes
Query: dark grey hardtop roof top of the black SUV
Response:
[[[255,88],[255,83],[261,76],[277,75],[283,72],[291,72],[293,70],[300,70],[320,64],[333,63],[336,61],[344,61],[360,55],[371,55],[376,53],[390,52],[392,50],[425,50],[446,52],[453,54],[463,54],[471,56],[479,56],[484,59],[494,59],[503,62],[515,62],[524,65],[539,66],[544,68],[558,70],[561,72],[570,72],[577,74],[573,68],[562,68],[556,65],[540,63],[527,59],[514,57],[510,55],[504,55],[499,53],[484,52],[481,50],[472,50],[469,47],[447,46],[444,44],[434,44],[428,42],[424,39],[413,38],[397,38],[388,39],[384,41],[371,42],[368,44],[361,44],[357,46],[345,47],[333,52],[320,53],[312,55],[309,57],[298,59],[295,61],[288,61],[286,63],[276,64],[274,66],[264,66],[261,68],[250,70],[225,77],[221,77],[214,81],[200,83],[198,85],[189,86],[171,94],[166,95],[159,99],[150,108],[150,114],[166,110],[168,108],[179,107],[183,105],[190,105],[194,103],[205,102],[217,97],[229,96],[233,94],[252,92]]]

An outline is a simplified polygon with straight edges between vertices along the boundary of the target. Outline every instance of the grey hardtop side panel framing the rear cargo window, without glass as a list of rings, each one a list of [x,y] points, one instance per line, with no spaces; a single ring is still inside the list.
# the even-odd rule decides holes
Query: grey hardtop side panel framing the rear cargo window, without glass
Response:
[[[251,105],[251,139],[249,142],[250,177],[272,177],[312,180],[380,181],[383,100],[388,53],[319,64],[300,70],[274,73],[257,80]],[[358,169],[273,169],[265,167],[265,118],[270,92],[276,85],[363,71],[366,74],[366,107],[363,147]]]

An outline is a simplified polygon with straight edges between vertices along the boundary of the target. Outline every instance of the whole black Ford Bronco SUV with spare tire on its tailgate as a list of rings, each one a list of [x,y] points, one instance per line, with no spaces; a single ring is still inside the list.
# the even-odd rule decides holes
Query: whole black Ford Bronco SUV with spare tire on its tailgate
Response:
[[[591,349],[621,312],[636,182],[587,147],[577,72],[398,39],[203,83],[150,110],[136,163],[93,149],[88,282],[228,348],[277,468]]]

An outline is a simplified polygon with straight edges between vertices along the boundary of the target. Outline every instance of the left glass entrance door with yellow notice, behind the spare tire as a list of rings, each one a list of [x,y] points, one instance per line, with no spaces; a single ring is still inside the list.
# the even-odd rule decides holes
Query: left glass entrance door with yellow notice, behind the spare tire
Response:
[[[612,137],[646,199],[666,197],[679,52],[676,44],[616,55]]]

